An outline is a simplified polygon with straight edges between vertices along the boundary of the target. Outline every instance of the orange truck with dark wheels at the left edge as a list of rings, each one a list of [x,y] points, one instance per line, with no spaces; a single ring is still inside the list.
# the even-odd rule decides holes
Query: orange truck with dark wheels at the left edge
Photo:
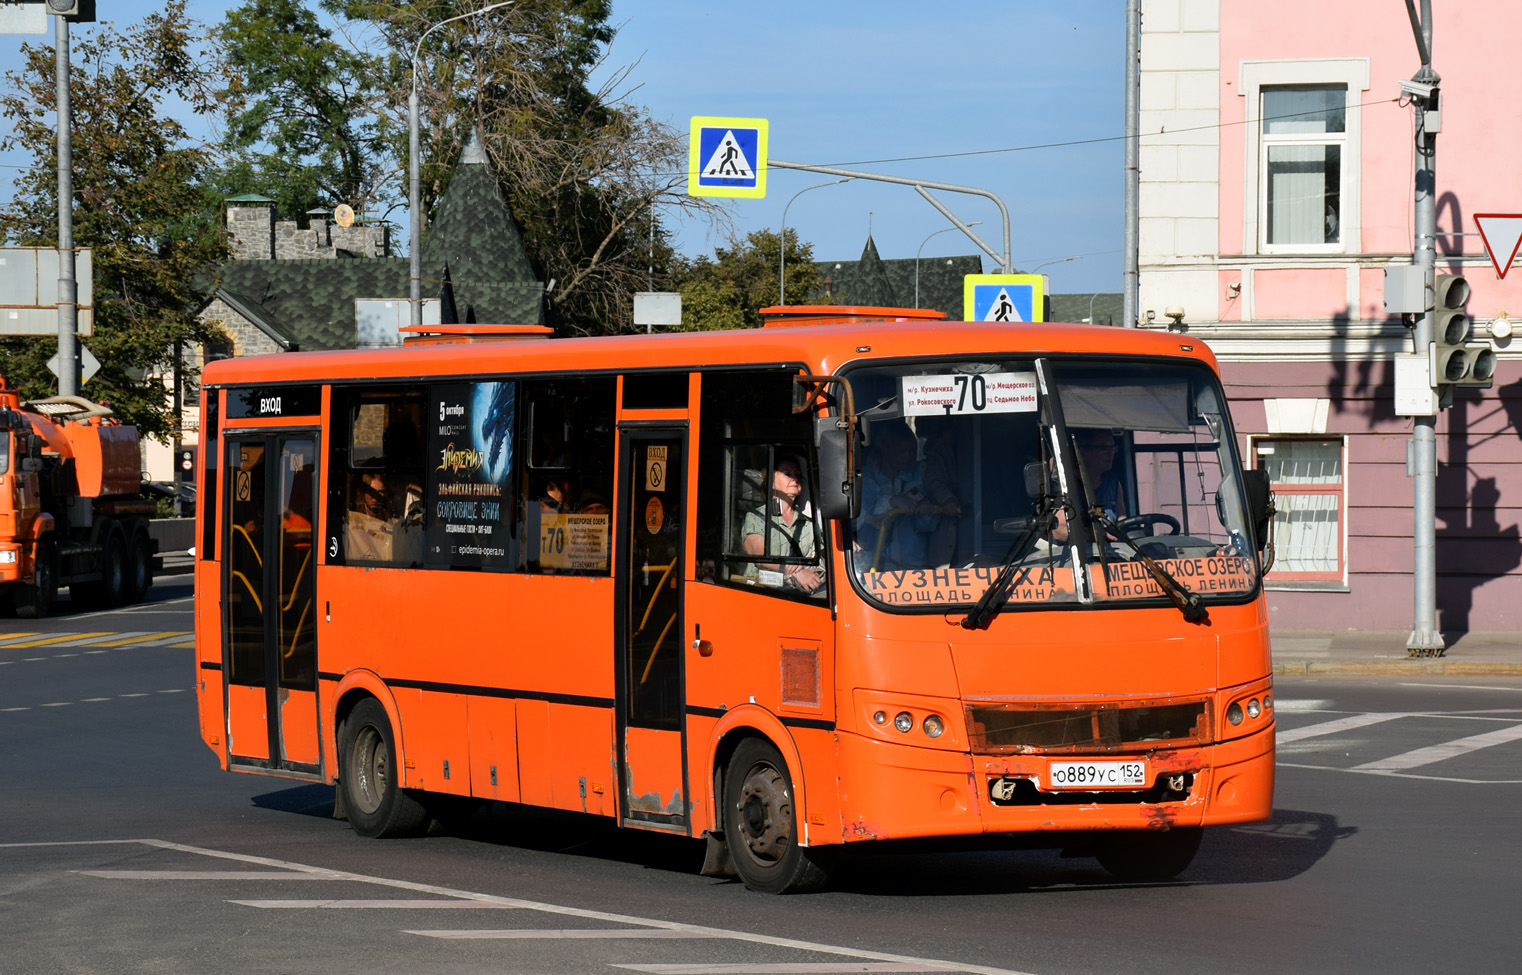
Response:
[[[21,402],[0,379],[0,601],[24,619],[62,586],[79,604],[140,601],[157,554],[140,476],[137,427],[81,397]]]

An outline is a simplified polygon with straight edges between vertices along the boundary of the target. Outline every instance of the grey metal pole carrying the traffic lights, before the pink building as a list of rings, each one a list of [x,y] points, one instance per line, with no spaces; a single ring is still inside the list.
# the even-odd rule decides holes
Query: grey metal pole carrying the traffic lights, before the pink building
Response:
[[[1411,263],[1422,269],[1425,281],[1425,310],[1417,319],[1412,351],[1426,354],[1434,338],[1434,297],[1437,295],[1437,125],[1438,78],[1432,70],[1432,0],[1422,0],[1417,14],[1415,0],[1406,0],[1411,15],[1411,30],[1415,35],[1417,53],[1422,55],[1422,70],[1409,85],[1402,85],[1411,94],[1417,111],[1417,178],[1415,178],[1415,240]],[[1437,382],[1435,376],[1429,376]],[[1406,653],[1412,657],[1438,657],[1443,654],[1443,634],[1437,628],[1437,415],[1414,417],[1412,475],[1415,481],[1412,499],[1412,605],[1411,636]]]

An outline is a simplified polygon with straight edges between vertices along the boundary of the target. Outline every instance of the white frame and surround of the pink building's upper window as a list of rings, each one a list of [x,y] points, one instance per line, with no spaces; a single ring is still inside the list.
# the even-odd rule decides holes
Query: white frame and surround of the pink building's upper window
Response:
[[[1342,85],[1347,88],[1344,131],[1263,137],[1263,88],[1295,85]],[[1362,245],[1362,132],[1359,103],[1368,91],[1368,58],[1326,58],[1285,61],[1242,61],[1237,65],[1237,94],[1245,99],[1242,252],[1253,254],[1358,254]],[[1268,243],[1268,146],[1332,145],[1342,148],[1342,173],[1338,190],[1336,243]]]

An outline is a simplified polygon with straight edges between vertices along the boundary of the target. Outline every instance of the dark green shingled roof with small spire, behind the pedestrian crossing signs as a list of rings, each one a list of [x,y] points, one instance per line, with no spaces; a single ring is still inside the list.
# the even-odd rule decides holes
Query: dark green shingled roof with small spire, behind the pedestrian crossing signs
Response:
[[[936,309],[945,312],[947,318],[960,318],[962,278],[968,274],[983,274],[983,259],[977,254],[921,257],[918,304],[915,304],[915,263],[913,257],[883,260],[869,236],[860,260],[816,263],[819,278],[826,283],[828,291],[810,298],[828,298],[837,304]]]

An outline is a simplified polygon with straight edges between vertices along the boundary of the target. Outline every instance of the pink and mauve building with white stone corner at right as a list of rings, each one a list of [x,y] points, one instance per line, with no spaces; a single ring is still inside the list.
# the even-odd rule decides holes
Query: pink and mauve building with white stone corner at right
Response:
[[[1288,630],[1409,630],[1412,421],[1396,415],[1385,269],[1409,265],[1422,65],[1400,0],[1143,0],[1140,315],[1221,357],[1245,455],[1282,516],[1269,611]],[[1475,213],[1522,213],[1514,0],[1434,0],[1438,274],[1479,341],[1522,315]],[[1505,260],[1505,256],[1501,256]],[[1504,332],[1504,329],[1498,329]],[[1446,633],[1522,628],[1522,338],[1437,421]],[[1513,345],[1516,342],[1516,345]]]

